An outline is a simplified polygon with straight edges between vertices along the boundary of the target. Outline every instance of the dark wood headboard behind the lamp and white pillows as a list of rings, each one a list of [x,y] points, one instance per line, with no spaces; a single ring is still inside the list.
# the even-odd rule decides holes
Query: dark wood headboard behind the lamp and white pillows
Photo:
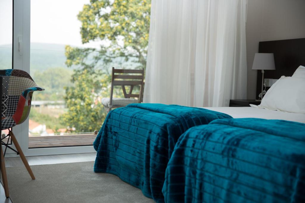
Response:
[[[274,54],[275,70],[265,71],[264,78],[267,79],[279,79],[282,75],[291,76],[300,65],[305,66],[305,38],[260,42],[258,52]],[[261,88],[262,72],[258,70],[257,98]]]

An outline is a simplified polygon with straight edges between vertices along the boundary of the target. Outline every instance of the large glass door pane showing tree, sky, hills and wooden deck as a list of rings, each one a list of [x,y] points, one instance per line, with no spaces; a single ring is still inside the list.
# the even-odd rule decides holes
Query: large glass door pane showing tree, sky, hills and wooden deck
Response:
[[[45,91],[33,94],[29,148],[92,145],[111,67],[145,68],[149,20],[146,0],[31,0],[30,73]]]

